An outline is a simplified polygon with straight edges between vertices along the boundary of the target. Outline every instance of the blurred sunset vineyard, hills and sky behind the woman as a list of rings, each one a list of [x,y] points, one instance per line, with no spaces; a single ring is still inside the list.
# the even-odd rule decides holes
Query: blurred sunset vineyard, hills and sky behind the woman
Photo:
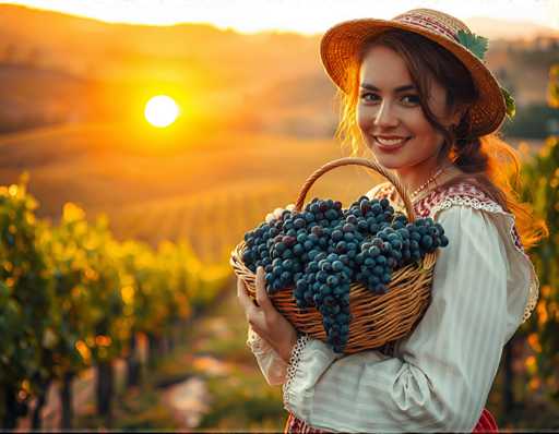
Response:
[[[3,429],[282,430],[230,251],[349,155],[321,34],[418,7],[489,37],[487,64],[516,101],[502,135],[550,237],[530,252],[540,300],[487,407],[501,429],[559,429],[558,3],[0,3]],[[378,182],[340,168],[308,200],[348,205]]]

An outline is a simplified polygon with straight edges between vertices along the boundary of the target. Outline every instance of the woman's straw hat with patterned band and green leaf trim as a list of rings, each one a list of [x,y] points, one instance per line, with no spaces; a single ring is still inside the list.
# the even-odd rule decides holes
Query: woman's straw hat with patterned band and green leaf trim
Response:
[[[326,73],[337,87],[345,92],[345,68],[358,55],[365,39],[394,28],[431,39],[467,68],[479,91],[479,98],[471,111],[472,134],[489,134],[501,126],[506,114],[514,114],[514,100],[484,64],[488,40],[473,34],[454,16],[431,9],[415,9],[390,21],[352,20],[330,28],[322,37],[320,55]]]

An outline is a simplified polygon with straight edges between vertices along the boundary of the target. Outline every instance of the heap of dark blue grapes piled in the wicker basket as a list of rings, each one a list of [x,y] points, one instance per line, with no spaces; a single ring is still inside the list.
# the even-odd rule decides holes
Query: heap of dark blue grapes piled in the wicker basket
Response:
[[[247,232],[245,241],[245,265],[252,273],[264,267],[269,293],[294,288],[299,309],[316,308],[336,352],[349,333],[352,282],[383,294],[395,269],[449,243],[431,218],[408,222],[386,198],[367,196],[347,209],[314,197],[301,212],[284,210]]]

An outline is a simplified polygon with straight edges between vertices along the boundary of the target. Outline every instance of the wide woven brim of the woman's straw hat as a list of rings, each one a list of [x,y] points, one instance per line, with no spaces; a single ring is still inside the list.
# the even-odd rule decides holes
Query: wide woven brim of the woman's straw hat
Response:
[[[337,87],[347,92],[344,88],[345,69],[356,58],[362,43],[394,28],[419,34],[441,45],[467,68],[479,94],[478,100],[472,107],[472,134],[486,135],[502,125],[507,106],[499,83],[489,69],[459,43],[413,24],[361,19],[340,23],[326,31],[320,44],[320,57],[328,75]]]

